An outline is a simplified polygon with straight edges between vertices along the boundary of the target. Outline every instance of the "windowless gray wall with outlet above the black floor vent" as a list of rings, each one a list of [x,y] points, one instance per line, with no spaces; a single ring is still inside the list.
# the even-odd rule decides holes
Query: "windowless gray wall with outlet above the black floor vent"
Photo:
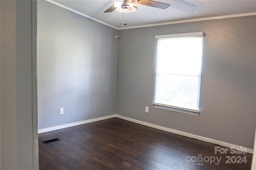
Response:
[[[38,129],[115,113],[116,33],[38,1]]]

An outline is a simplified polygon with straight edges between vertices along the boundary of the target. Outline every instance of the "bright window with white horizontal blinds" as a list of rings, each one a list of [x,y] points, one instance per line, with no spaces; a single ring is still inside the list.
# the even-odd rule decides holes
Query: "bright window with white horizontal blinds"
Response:
[[[199,115],[204,33],[156,35],[155,107]]]

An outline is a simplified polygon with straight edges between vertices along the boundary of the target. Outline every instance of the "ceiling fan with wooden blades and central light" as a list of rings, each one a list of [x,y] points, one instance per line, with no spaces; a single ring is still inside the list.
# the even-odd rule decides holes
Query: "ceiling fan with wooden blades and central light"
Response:
[[[116,4],[117,4],[118,1],[122,5],[117,6]],[[126,5],[124,5],[124,4],[130,3],[130,1],[134,1],[134,0],[115,0],[115,4],[112,5],[110,8],[108,8],[106,11],[104,11],[104,13],[106,13],[106,12],[113,12],[114,10],[117,10],[119,12],[124,12],[122,10],[128,9],[126,7]],[[137,3],[137,0],[135,0],[135,1]],[[138,3],[142,4],[142,5],[146,5],[146,6],[151,6],[151,7],[154,7],[154,8],[160,8],[160,9],[163,9],[163,10],[165,10],[166,8],[168,8],[170,6],[170,4],[165,4],[165,3],[162,3],[162,2],[156,2],[156,1],[152,1],[152,0],[138,0]],[[136,8],[135,10],[131,9],[131,11],[127,11],[127,12],[136,11],[137,7],[135,7],[135,8]]]

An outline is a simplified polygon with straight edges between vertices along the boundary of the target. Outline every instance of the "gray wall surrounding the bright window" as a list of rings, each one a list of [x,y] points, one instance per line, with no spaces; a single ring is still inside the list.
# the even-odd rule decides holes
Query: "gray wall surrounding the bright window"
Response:
[[[198,31],[206,33],[200,115],[153,107],[155,35]],[[253,149],[255,31],[256,16],[119,30],[116,113]]]

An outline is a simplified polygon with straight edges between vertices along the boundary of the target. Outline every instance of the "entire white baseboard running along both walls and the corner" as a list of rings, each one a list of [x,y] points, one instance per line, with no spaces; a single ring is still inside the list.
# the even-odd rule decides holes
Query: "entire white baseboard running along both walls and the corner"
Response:
[[[178,135],[182,135],[182,136],[185,136],[185,137],[190,137],[190,138],[193,138],[193,139],[198,139],[200,141],[205,141],[205,142],[208,142],[208,143],[214,143],[216,145],[220,145],[220,146],[224,146],[224,147],[228,147],[228,148],[234,147],[237,150],[246,149],[248,153],[251,153],[251,154],[253,153],[253,149],[241,147],[241,146],[238,146],[238,145],[233,145],[231,143],[217,141],[215,139],[210,139],[210,138],[207,138],[207,137],[202,137],[202,136],[194,135],[194,134],[191,134],[191,133],[177,131],[175,129],[170,129],[170,128],[167,128],[167,127],[162,127],[162,126],[154,125],[154,124],[151,124],[151,123],[147,123],[147,122],[144,122],[144,121],[139,121],[139,120],[136,120],[136,119],[132,119],[132,118],[121,116],[121,115],[117,115],[117,114],[109,115],[109,116],[104,116],[104,117],[98,117],[98,118],[95,118],[95,119],[89,119],[89,120],[84,120],[84,121],[78,121],[78,122],[74,122],[74,123],[68,123],[68,124],[65,124],[65,125],[48,127],[48,128],[45,128],[45,129],[38,129],[38,134],[39,133],[44,133],[44,132],[49,132],[49,131],[55,131],[55,130],[58,130],[58,129],[64,129],[64,128],[67,128],[67,127],[83,125],[83,124],[86,124],[86,123],[92,123],[92,122],[95,122],[95,121],[101,121],[101,120],[105,120],[105,119],[110,119],[110,118],[113,118],[113,117],[118,117],[120,119],[124,119],[124,120],[127,120],[127,121],[138,123],[140,125],[145,125],[145,126],[148,126],[148,127],[153,127],[155,129],[160,129],[162,131],[167,131],[167,132],[170,132],[170,133],[175,133],[175,134],[178,134]],[[244,151],[244,150],[241,150],[241,151]]]

